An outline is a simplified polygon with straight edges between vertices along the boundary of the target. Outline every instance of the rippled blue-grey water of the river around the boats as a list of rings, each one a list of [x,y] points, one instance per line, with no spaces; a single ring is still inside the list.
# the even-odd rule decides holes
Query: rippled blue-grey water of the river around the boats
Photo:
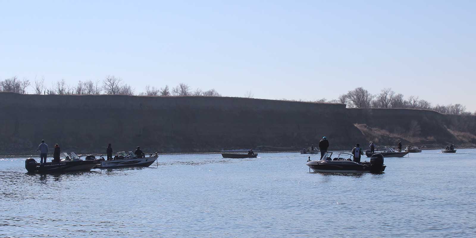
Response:
[[[62,175],[3,158],[0,237],[475,237],[475,155],[387,158],[379,175],[309,173],[299,153]]]

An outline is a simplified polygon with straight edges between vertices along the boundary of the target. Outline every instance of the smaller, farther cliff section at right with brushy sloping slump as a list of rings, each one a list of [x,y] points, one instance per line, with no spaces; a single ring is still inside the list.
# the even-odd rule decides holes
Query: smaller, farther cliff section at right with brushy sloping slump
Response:
[[[476,117],[420,109],[347,109],[368,141],[381,145],[442,147],[476,145]]]

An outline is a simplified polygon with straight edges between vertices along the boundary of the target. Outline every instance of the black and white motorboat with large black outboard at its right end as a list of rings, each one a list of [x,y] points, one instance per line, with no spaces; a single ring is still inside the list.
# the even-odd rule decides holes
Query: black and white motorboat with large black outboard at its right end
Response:
[[[314,172],[334,172],[334,173],[381,173],[387,166],[384,165],[384,157],[381,154],[374,154],[370,161],[354,162],[353,155],[349,153],[339,153],[334,159],[332,152],[324,154],[320,160],[311,160],[307,166]]]

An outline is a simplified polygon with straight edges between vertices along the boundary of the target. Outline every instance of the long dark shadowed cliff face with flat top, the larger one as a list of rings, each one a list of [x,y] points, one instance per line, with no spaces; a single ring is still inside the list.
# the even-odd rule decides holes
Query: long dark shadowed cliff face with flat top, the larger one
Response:
[[[297,150],[327,136],[332,149],[365,141],[343,104],[211,97],[0,93],[1,154],[62,151]],[[349,144],[350,143],[350,144]]]

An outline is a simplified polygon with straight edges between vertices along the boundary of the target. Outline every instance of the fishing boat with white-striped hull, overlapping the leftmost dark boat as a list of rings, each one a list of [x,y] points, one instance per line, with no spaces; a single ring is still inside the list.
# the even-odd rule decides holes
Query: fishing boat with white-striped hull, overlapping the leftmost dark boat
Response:
[[[126,153],[125,151],[117,153],[114,159],[98,161],[95,169],[113,169],[120,167],[149,167],[159,158],[159,154],[149,154],[149,157],[137,158],[132,151]]]

